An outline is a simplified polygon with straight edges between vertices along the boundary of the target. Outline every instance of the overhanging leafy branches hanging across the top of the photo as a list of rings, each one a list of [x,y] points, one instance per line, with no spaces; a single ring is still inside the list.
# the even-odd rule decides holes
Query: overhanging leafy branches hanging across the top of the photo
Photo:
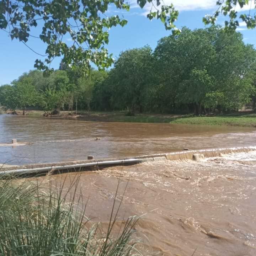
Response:
[[[172,4],[165,5],[160,0],[137,0],[137,3],[141,8],[151,5],[147,15],[150,20],[157,18],[174,35],[180,33],[174,24],[178,10]],[[229,17],[225,21],[226,30],[235,30],[239,26],[239,19],[248,28],[254,28],[256,16],[251,15],[250,11],[238,16],[237,7],[243,9],[249,4],[251,11],[255,9],[255,4],[249,0],[218,0],[217,11],[212,16],[204,17],[203,22],[215,24],[218,15],[223,14]],[[66,66],[79,66],[84,71],[90,70],[91,63],[107,68],[113,63],[112,55],[106,49],[108,29],[127,23],[118,15],[107,17],[106,12],[110,6],[129,11],[129,4],[125,0],[2,0],[0,29],[6,31],[11,39],[18,39],[23,44],[30,37],[46,43],[46,52],[41,55],[45,59],[36,59],[34,64],[39,70],[53,70],[49,65],[55,57],[63,57]],[[35,27],[39,28],[39,34],[34,34]],[[71,46],[64,42],[65,35],[72,38]]]

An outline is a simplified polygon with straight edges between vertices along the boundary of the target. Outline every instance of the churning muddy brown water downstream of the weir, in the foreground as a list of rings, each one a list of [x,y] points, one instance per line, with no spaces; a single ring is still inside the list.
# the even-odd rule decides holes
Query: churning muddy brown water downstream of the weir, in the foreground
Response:
[[[127,186],[118,216],[121,222],[143,215],[135,227],[143,255],[191,256],[196,250],[194,256],[255,256],[255,167],[256,151],[144,162],[81,172],[78,191],[87,217],[104,225],[118,181],[118,202]],[[38,179],[58,184],[66,179],[68,188],[77,175]]]

